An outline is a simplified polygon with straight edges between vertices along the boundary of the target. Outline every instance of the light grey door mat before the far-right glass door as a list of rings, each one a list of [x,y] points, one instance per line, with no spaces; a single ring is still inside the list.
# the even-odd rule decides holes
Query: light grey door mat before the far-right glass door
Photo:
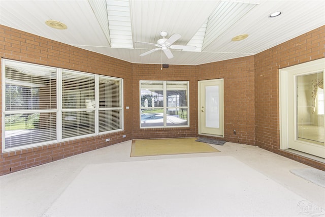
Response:
[[[293,169],[290,170],[291,173],[298,175],[320,187],[325,188],[325,171],[318,170],[315,168],[305,168],[305,169]]]

